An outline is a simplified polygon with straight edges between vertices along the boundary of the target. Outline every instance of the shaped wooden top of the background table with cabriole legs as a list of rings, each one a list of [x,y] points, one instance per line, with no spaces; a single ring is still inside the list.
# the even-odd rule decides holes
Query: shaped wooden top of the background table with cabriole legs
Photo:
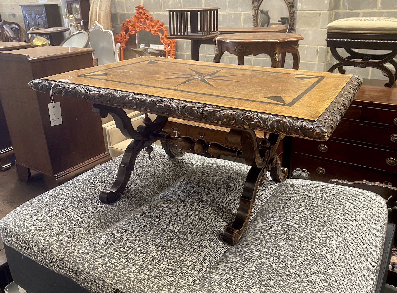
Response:
[[[303,40],[303,37],[299,34],[287,34],[287,33],[235,33],[227,35],[219,35],[214,40],[222,40],[225,42],[249,42],[249,43],[278,43],[294,40]]]

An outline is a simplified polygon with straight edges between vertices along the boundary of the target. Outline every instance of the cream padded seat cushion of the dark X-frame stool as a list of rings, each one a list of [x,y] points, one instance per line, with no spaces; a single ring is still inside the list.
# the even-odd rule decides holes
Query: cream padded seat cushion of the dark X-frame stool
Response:
[[[328,33],[397,34],[397,18],[349,17],[332,21]]]

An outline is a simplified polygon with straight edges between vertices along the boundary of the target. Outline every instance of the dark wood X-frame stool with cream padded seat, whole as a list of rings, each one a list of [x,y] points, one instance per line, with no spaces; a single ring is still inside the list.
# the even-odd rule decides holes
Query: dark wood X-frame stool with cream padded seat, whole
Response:
[[[343,66],[373,67],[383,71],[389,78],[385,87],[391,87],[397,79],[397,18],[393,17],[349,17],[338,19],[327,25],[327,46],[339,63],[328,72],[338,68],[345,73]],[[349,54],[342,57],[337,48],[344,48]],[[358,53],[353,49],[387,50],[385,54]],[[391,64],[390,70],[385,64]]]

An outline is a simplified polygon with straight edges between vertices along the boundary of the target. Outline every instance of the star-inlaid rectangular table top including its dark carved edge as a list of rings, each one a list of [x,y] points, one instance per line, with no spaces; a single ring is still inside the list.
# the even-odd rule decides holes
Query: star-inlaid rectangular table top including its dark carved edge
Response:
[[[69,81],[58,81],[60,79]],[[357,76],[141,57],[37,79],[31,89],[229,128],[327,140]]]

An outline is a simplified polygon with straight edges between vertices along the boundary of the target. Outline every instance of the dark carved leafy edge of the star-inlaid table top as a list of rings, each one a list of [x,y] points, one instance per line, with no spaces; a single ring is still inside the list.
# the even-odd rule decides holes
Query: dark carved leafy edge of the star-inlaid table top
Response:
[[[83,98],[98,104],[133,108],[152,112],[162,116],[170,116],[191,121],[202,121],[224,125],[234,129],[255,129],[287,136],[303,137],[318,141],[326,141],[345,114],[351,101],[362,84],[362,78],[353,75],[331,104],[316,121],[299,120],[297,118],[264,114],[260,112],[235,110],[221,106],[187,102],[138,93],[108,90],[98,87],[77,85],[74,83],[56,82],[48,79],[35,79],[29,88],[53,94]]]

